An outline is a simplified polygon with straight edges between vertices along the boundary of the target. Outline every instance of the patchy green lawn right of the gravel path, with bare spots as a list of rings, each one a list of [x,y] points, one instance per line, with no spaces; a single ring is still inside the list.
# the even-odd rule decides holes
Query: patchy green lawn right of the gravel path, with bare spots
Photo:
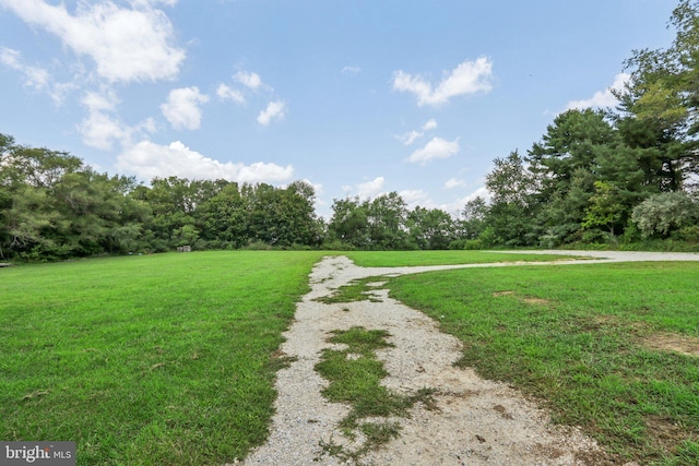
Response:
[[[464,342],[461,363],[506,381],[641,464],[699,464],[698,263],[470,268],[392,278],[391,296]]]

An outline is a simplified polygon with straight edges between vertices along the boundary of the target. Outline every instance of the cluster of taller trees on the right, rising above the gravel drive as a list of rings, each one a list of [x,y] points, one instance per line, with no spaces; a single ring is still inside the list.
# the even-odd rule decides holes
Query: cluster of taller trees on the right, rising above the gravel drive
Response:
[[[616,109],[558,115],[526,155],[495,160],[484,242],[699,241],[699,2],[666,49],[636,50]]]

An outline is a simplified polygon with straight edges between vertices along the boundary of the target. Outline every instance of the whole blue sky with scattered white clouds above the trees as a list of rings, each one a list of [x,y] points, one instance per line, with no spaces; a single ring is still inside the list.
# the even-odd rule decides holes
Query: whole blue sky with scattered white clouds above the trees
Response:
[[[99,172],[306,180],[458,215],[496,157],[614,107],[670,0],[0,0],[0,133]]]

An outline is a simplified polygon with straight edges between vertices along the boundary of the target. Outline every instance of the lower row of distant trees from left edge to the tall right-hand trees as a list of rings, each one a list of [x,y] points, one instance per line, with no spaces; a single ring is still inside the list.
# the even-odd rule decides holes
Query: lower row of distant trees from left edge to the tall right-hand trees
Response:
[[[144,186],[0,134],[4,260],[161,252],[186,244],[200,250],[447,249],[459,247],[470,228],[437,208],[408,210],[395,192],[335,200],[325,222],[315,212],[315,196],[305,181],[277,188],[168,177]]]

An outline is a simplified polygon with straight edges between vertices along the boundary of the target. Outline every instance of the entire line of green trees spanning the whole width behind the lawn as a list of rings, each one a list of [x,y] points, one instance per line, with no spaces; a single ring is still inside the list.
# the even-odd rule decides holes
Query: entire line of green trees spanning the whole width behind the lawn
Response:
[[[0,259],[58,260],[194,249],[476,249],[699,243],[699,2],[683,0],[666,49],[636,50],[606,110],[555,117],[525,155],[494,160],[489,198],[458,217],[396,192],[334,200],[313,187],[99,174],[80,158],[0,133]]]

